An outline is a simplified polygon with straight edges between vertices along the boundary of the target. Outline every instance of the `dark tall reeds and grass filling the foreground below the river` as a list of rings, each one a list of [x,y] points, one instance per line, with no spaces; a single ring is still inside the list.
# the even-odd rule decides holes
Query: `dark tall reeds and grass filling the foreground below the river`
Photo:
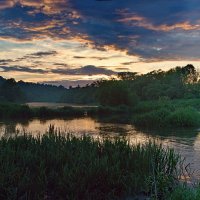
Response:
[[[0,199],[166,199],[177,186],[181,159],[149,142],[63,136],[0,139]]]

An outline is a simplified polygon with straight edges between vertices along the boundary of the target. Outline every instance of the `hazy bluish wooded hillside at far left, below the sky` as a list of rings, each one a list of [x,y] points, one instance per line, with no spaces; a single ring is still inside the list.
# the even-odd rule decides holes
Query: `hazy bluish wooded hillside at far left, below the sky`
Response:
[[[0,102],[59,102],[66,88],[0,77]]]

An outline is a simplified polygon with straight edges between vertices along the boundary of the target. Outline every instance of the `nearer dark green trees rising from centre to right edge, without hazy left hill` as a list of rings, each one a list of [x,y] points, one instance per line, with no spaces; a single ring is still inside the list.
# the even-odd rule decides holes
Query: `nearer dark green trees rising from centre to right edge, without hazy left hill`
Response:
[[[132,106],[138,101],[188,98],[200,98],[199,73],[191,64],[147,74],[120,72],[117,78],[67,90],[62,101]]]

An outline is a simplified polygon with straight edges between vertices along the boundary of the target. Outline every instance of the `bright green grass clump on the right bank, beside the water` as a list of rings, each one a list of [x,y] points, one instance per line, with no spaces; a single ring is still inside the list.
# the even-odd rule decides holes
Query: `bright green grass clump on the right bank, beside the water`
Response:
[[[146,101],[133,108],[132,122],[142,127],[198,127],[200,100]]]

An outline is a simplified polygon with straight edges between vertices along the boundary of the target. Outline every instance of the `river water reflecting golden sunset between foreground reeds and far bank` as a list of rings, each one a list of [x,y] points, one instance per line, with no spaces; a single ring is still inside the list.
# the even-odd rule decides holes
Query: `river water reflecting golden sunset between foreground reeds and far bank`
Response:
[[[191,163],[196,170],[196,177],[200,174],[200,131],[196,129],[138,129],[130,124],[117,119],[94,119],[90,117],[77,119],[33,119],[30,121],[7,121],[0,123],[0,134],[12,136],[16,132],[32,135],[43,134],[50,125],[55,125],[61,131],[74,134],[88,134],[93,137],[125,137],[131,143],[144,143],[157,140],[165,147],[173,147],[176,152]]]

